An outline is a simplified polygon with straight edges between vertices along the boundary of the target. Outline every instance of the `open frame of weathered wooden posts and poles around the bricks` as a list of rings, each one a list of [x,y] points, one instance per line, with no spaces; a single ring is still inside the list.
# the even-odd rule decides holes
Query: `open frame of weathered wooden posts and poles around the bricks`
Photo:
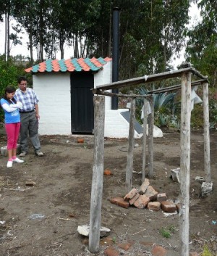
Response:
[[[192,81],[192,74],[196,75],[200,80]],[[171,86],[150,91],[148,95],[124,95],[109,93],[106,90],[112,88],[122,88],[126,86],[134,86],[139,83],[150,83],[168,78],[181,78],[181,85]],[[165,91],[181,89],[181,127],[180,127],[180,256],[189,256],[189,200],[190,200],[190,118],[191,118],[191,87],[203,86],[203,116],[204,116],[204,170],[205,181],[211,182],[210,176],[210,134],[209,134],[209,112],[208,112],[208,78],[201,75],[195,68],[187,67],[180,70],[159,73],[156,75],[145,75],[141,78],[133,78],[122,80],[106,85],[98,86],[93,89],[94,107],[95,107],[95,123],[94,123],[94,162],[93,162],[93,180],[91,189],[90,201],[90,239],[89,250],[96,253],[99,249],[100,228],[101,228],[101,202],[103,190],[103,152],[104,152],[104,118],[105,118],[105,99],[104,96],[119,96],[132,98],[130,120],[129,120],[129,146],[127,152],[127,170],[126,170],[126,189],[129,191],[132,187],[132,165],[133,165],[133,148],[134,148],[134,123],[135,123],[135,99],[137,97],[144,98],[144,106],[147,105],[147,97],[150,97],[149,102],[152,108],[151,115],[148,116],[148,152],[149,165],[148,176],[153,178],[153,97],[152,94],[158,94]],[[101,96],[99,96],[101,95]],[[143,123],[143,145],[142,145],[142,181],[145,179],[145,146],[146,146],[146,118],[144,107],[144,123]]]

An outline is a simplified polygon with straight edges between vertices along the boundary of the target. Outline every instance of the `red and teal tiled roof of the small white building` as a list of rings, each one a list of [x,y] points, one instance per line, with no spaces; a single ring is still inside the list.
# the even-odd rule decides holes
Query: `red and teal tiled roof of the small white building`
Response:
[[[48,59],[46,62],[41,62],[38,65],[27,68],[25,72],[27,73],[38,73],[38,72],[73,72],[73,71],[97,71],[100,70],[103,65],[110,62],[111,58],[102,57],[96,59],[93,58],[74,58],[74,59]]]

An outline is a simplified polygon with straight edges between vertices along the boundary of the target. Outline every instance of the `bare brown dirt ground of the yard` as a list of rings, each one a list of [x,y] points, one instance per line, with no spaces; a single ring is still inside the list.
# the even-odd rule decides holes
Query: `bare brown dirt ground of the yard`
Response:
[[[85,139],[78,144],[77,139]],[[141,185],[142,139],[134,151],[132,185]],[[0,135],[0,146],[6,136]],[[90,191],[93,166],[93,136],[41,136],[44,157],[33,149],[22,164],[7,168],[7,157],[0,156],[0,244],[1,255],[54,256],[92,255],[88,239],[77,232],[77,226],[90,221]],[[127,163],[127,140],[106,139],[103,176],[101,225],[111,229],[109,238],[119,255],[152,255],[153,244],[167,250],[166,256],[179,256],[179,215],[166,216],[160,210],[112,205],[112,197],[124,197]],[[207,245],[217,255],[217,132],[210,133],[211,176],[213,193],[200,197],[204,177],[203,131],[191,136],[190,167],[190,251],[201,255]],[[154,171],[150,185],[169,199],[179,199],[179,183],[170,178],[171,169],[180,164],[179,132],[163,133],[154,139]],[[148,171],[148,170],[147,170]],[[35,186],[26,186],[27,181]],[[166,238],[161,231],[171,232]],[[119,243],[134,241],[127,251]],[[97,255],[104,255],[108,244],[103,241]]]

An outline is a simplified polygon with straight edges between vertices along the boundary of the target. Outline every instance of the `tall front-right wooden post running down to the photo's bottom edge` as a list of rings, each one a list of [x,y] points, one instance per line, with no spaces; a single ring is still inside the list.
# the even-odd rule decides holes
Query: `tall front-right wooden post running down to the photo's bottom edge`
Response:
[[[180,256],[189,256],[191,73],[182,74]]]

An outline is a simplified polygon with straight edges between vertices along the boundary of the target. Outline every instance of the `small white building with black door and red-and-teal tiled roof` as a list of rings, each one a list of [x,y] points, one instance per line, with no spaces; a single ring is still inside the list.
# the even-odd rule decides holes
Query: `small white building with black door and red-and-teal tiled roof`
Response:
[[[93,133],[91,89],[111,83],[111,59],[48,60],[25,71],[33,73],[33,90],[40,101],[41,135]],[[128,138],[129,123],[122,115],[126,111],[111,110],[111,97],[106,96],[105,137]],[[141,136],[135,131],[135,138]]]

